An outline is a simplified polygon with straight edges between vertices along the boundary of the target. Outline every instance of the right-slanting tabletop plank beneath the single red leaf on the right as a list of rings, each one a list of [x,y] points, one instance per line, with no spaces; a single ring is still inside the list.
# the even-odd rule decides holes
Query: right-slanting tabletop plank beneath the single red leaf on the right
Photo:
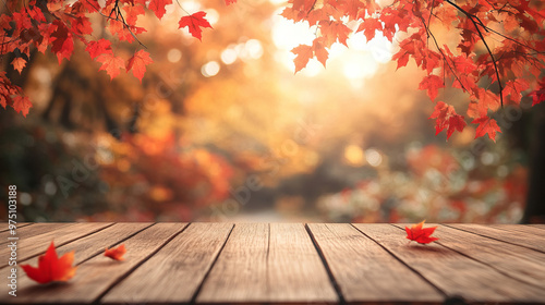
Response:
[[[404,231],[393,225],[354,225],[449,297],[461,296],[469,302],[504,303],[545,300],[543,289],[521,283],[438,243],[408,243]]]

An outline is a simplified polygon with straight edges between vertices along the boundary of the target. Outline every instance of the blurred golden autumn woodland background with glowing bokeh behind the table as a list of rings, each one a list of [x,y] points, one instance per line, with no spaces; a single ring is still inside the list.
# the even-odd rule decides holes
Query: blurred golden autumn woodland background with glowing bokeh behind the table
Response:
[[[142,84],[110,81],[82,46],[61,65],[36,52],[22,75],[3,61],[34,103],[26,119],[0,109],[0,185],[17,186],[19,221],[517,223],[529,206],[538,215],[545,200],[530,185],[545,184],[529,169],[543,107],[524,98],[498,113],[496,143],[474,139],[471,125],[447,142],[414,62],[390,62],[396,41],[360,33],[330,50],[326,69],[311,60],[294,75],[290,50],[314,33],[279,15],[284,1],[180,3],[205,10],[214,29],[202,42],[178,29],[178,5],[160,22],[142,17],[155,61]],[[109,37],[104,25],[96,16],[96,38]],[[112,46],[126,58],[141,48]],[[467,102],[452,88],[439,99]],[[532,215],[524,220],[540,221]]]

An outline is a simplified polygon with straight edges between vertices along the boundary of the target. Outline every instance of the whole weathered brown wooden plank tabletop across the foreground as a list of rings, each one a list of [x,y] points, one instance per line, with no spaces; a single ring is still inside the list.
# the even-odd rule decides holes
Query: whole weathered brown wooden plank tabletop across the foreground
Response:
[[[402,224],[24,223],[19,265],[55,241],[78,267],[45,285],[20,269],[16,297],[10,236],[0,230],[2,304],[545,304],[544,224],[441,224],[420,245]],[[119,244],[125,260],[102,255]]]

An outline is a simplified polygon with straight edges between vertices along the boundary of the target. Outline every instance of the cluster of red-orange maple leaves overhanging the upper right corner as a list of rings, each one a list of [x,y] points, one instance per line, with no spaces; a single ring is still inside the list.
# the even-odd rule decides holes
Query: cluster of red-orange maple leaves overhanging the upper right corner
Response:
[[[326,49],[318,58],[314,44],[295,47],[295,73],[313,57],[324,63],[327,49],[336,42],[346,45],[354,28],[367,40],[379,30],[390,41],[395,36],[400,39],[399,51],[392,56],[398,69],[413,60],[425,71],[419,88],[432,100],[446,84],[469,95],[467,113],[477,124],[476,137],[488,134],[495,141],[500,129],[489,119],[489,111],[519,105],[526,90],[534,90],[530,94],[534,105],[545,100],[545,86],[537,81],[545,69],[545,12],[536,1],[508,1],[506,5],[506,1],[393,0],[385,7],[372,0],[289,3],[282,16],[317,27],[315,41],[322,40]],[[434,35],[438,26],[461,30],[456,52]],[[437,102],[431,118],[436,119],[437,132],[447,130],[447,138],[467,125],[464,117],[444,101]]]

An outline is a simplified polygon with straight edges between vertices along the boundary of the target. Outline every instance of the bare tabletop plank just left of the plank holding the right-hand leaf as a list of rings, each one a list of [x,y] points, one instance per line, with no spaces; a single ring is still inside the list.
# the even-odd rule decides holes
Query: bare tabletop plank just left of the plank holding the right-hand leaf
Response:
[[[347,302],[435,302],[445,295],[348,223],[308,224]]]

